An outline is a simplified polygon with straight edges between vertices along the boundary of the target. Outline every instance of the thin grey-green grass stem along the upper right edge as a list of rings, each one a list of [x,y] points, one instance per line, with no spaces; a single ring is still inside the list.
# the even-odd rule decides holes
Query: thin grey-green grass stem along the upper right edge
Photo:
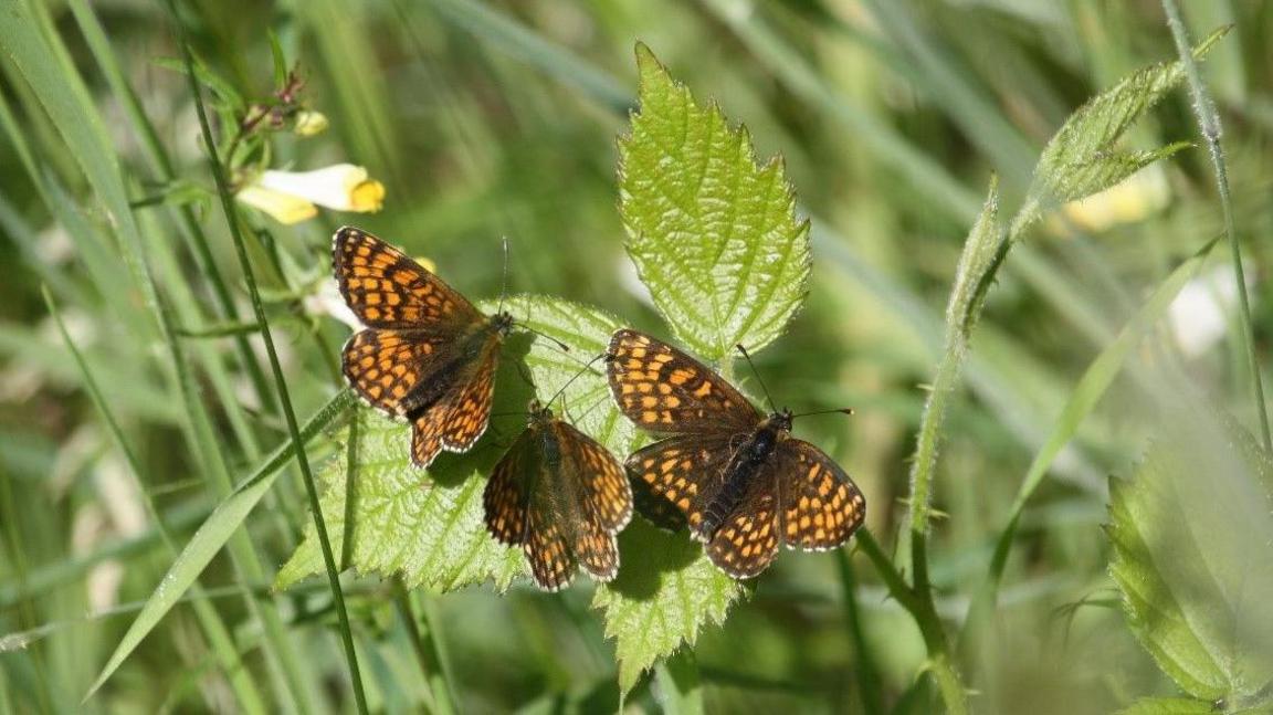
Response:
[[[1220,192],[1220,207],[1225,215],[1225,235],[1228,239],[1228,251],[1234,262],[1234,280],[1237,286],[1237,304],[1242,314],[1241,344],[1246,351],[1246,359],[1251,370],[1251,385],[1255,388],[1255,411],[1260,416],[1260,436],[1264,440],[1264,449],[1273,452],[1273,436],[1269,431],[1268,407],[1264,403],[1264,380],[1260,378],[1259,356],[1255,354],[1255,331],[1251,323],[1251,305],[1246,296],[1246,280],[1242,271],[1242,252],[1237,243],[1237,230],[1234,228],[1234,207],[1228,193],[1228,169],[1225,164],[1225,148],[1220,144],[1222,128],[1216,104],[1211,101],[1207,85],[1203,84],[1198,74],[1198,62],[1189,43],[1189,33],[1180,19],[1180,6],[1175,0],[1162,0],[1162,9],[1167,14],[1167,27],[1171,28],[1171,37],[1176,42],[1176,53],[1185,67],[1185,76],[1189,80],[1189,94],[1193,98],[1190,106],[1194,117],[1198,120],[1198,130],[1207,141],[1207,154],[1211,156],[1211,167],[1216,172],[1216,190]]]

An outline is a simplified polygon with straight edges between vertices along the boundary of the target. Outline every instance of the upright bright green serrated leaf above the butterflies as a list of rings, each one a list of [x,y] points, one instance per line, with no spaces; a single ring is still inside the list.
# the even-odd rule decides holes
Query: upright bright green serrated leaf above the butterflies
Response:
[[[640,113],[619,142],[628,253],[682,344],[709,360],[759,350],[805,302],[808,221],[779,159],[757,167],[747,131],[695,104],[644,45],[636,64]]]

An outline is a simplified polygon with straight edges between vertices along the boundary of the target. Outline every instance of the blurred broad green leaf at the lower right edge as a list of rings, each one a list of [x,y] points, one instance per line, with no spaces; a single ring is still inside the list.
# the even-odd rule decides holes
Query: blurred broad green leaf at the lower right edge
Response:
[[[1188,394],[1162,408],[1165,425],[1134,478],[1110,482],[1110,574],[1132,632],[1183,691],[1267,701],[1273,461]]]

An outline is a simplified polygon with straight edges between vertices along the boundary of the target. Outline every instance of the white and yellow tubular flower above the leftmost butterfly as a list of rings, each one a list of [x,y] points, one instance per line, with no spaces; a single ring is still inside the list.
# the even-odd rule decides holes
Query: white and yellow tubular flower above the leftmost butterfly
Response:
[[[379,211],[384,184],[354,164],[334,164],[312,172],[261,173],[239,190],[238,200],[283,224],[295,224],[318,214],[314,205],[360,214]]]

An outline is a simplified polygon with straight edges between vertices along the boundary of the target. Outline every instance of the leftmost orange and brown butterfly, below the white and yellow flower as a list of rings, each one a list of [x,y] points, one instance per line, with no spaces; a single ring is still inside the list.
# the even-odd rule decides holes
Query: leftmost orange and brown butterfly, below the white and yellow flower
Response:
[[[367,326],[341,354],[367,403],[411,422],[411,462],[466,452],[486,431],[505,312],[482,314],[420,263],[374,235],[345,226],[332,239],[340,294]]]

